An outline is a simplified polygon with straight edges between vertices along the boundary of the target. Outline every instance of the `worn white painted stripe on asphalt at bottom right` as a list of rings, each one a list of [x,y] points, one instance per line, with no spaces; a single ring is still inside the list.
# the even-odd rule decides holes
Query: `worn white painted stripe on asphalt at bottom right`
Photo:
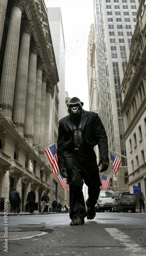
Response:
[[[130,250],[131,253],[137,252],[138,254],[135,255],[146,255],[146,251],[139,245],[136,244],[134,241],[131,241],[130,237],[127,236],[127,234],[121,232],[117,228],[105,228],[107,232],[113,237],[113,239],[119,241],[119,245],[122,244],[126,249],[124,250]],[[144,253],[144,254],[143,254]]]

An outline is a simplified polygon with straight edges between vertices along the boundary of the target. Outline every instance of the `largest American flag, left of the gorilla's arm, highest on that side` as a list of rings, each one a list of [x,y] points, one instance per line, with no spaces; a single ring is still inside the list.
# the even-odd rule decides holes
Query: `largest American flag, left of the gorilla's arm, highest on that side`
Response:
[[[50,161],[50,163],[52,165],[52,173],[53,174],[59,173],[56,145],[54,144],[53,146],[48,147],[45,150],[45,153],[47,155],[48,160]]]

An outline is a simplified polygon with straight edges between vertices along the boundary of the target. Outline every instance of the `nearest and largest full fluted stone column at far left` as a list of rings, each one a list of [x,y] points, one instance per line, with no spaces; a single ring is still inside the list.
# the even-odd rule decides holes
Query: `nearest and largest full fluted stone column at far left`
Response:
[[[12,119],[22,4],[22,0],[13,1],[1,78],[0,106],[8,119]]]

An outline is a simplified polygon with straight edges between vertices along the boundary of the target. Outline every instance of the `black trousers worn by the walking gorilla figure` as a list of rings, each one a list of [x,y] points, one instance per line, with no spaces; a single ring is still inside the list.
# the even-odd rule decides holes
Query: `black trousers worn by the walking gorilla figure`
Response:
[[[67,184],[69,184],[70,219],[74,219],[76,214],[85,218],[87,215],[82,191],[84,182],[88,186],[87,207],[95,206],[102,185],[95,152],[93,149],[89,151],[67,151],[64,156],[68,174]]]

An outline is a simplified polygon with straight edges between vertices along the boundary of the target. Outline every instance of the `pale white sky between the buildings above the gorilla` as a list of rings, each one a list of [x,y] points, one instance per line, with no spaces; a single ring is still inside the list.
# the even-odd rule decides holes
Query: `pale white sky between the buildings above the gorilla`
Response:
[[[89,110],[87,47],[93,0],[44,0],[46,7],[60,7],[65,40],[65,91],[77,96]]]

